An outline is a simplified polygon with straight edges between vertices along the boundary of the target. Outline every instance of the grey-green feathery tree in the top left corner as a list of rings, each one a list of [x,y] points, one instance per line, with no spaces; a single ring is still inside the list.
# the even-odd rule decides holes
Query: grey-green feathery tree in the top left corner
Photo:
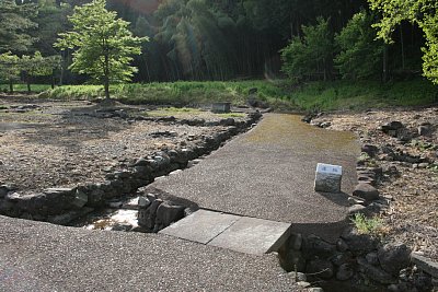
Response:
[[[35,42],[28,31],[37,24],[33,19],[37,15],[35,4],[20,4],[15,0],[0,1],[0,52],[26,51]]]

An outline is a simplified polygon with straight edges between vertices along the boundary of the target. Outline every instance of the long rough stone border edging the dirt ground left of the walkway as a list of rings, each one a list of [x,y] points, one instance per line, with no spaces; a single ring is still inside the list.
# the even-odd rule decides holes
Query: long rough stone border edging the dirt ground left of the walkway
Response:
[[[257,110],[246,116],[243,121],[233,118],[207,124],[205,120],[181,120],[191,126],[226,126],[227,129],[203,140],[193,147],[176,150],[158,151],[151,155],[139,157],[125,171],[106,175],[100,184],[77,186],[73,188],[48,188],[41,194],[21,195],[7,185],[0,186],[0,214],[36,221],[48,221],[66,225],[69,222],[104,207],[105,202],[120,195],[135,192],[149,185],[155,177],[187,167],[189,161],[217,150],[230,138],[246,131],[262,118]],[[155,118],[154,121],[175,121]]]

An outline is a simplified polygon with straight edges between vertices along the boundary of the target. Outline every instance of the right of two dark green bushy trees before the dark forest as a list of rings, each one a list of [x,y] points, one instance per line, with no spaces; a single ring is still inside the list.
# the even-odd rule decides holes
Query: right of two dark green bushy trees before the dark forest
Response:
[[[384,45],[382,40],[374,40],[372,23],[373,17],[365,11],[356,13],[335,36],[341,48],[335,65],[343,78],[369,79],[380,73]]]

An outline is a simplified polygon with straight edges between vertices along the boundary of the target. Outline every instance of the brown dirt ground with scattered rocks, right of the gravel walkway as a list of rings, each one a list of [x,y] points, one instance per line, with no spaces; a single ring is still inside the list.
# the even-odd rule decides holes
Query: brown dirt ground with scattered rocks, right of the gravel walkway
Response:
[[[380,127],[391,121],[401,121],[408,139],[382,132]],[[438,261],[438,107],[330,114],[312,120],[323,122],[330,129],[354,131],[362,144],[378,145],[377,165],[383,170],[396,167],[397,174],[385,176],[378,186],[391,201],[381,213],[389,226],[387,238],[407,243]],[[428,131],[419,135],[420,126]],[[426,163],[396,161],[388,155],[390,151]]]

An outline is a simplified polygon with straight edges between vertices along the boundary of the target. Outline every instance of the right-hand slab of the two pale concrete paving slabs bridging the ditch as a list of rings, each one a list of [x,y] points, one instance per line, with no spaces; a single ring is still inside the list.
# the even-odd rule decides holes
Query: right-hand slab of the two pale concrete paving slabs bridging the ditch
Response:
[[[242,217],[208,245],[263,255],[276,252],[290,235],[290,224]]]

